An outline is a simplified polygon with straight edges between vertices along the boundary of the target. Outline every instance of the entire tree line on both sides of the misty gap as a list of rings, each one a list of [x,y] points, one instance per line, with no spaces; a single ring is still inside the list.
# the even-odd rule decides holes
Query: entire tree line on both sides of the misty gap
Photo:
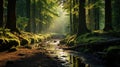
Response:
[[[5,3],[8,3],[4,6]],[[47,30],[51,20],[58,16],[58,0],[0,0],[0,27],[18,32],[38,33]],[[94,30],[119,30],[119,0],[61,0],[63,9],[70,14],[71,34],[84,34]],[[24,6],[22,6],[24,5]],[[7,11],[5,10],[7,8]],[[6,11],[6,12],[4,12]],[[7,15],[7,21],[3,16]]]

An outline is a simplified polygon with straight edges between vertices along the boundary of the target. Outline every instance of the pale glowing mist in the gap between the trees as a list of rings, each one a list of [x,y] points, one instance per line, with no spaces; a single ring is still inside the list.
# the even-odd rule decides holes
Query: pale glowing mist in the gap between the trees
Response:
[[[69,16],[67,16],[67,12],[64,11],[61,6],[57,8],[57,11],[59,12],[59,17],[54,18],[48,31],[52,33],[66,34],[69,30]]]

